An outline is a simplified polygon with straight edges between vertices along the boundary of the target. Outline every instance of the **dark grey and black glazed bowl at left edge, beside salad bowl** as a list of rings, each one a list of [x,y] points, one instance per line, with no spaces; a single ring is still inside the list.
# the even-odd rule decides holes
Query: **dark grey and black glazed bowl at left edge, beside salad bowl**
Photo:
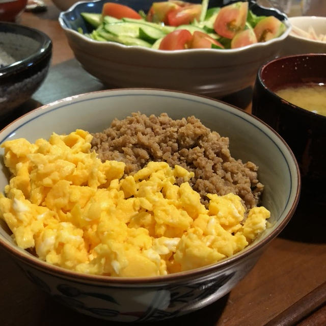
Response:
[[[52,54],[44,33],[0,22],[0,117],[28,100],[43,83]]]

